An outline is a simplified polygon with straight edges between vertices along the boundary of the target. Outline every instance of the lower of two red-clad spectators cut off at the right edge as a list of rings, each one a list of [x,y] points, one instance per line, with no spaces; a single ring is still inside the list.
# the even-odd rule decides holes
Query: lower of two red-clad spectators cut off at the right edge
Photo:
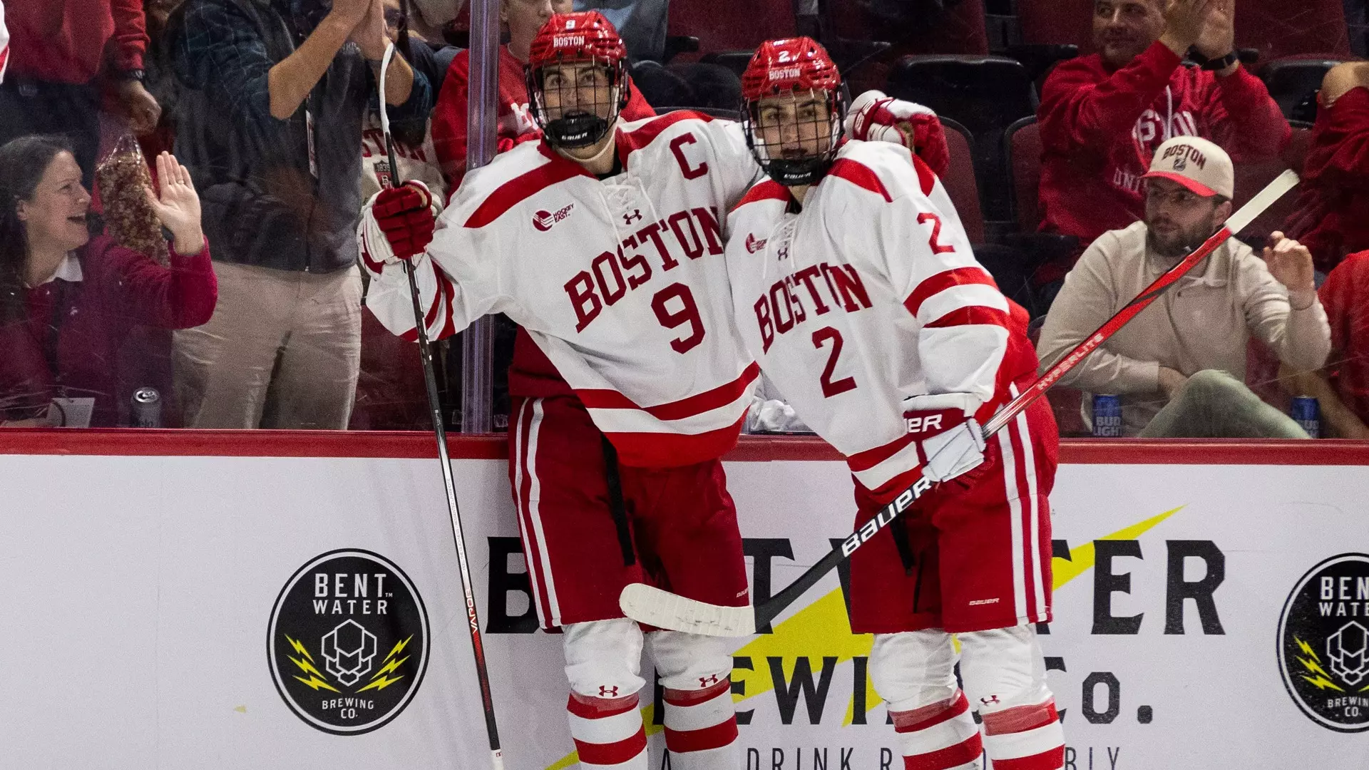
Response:
[[[1285,367],[1283,382],[1294,396],[1317,399],[1324,437],[1369,440],[1369,251],[1338,264],[1318,295],[1331,321],[1331,358],[1318,371]]]

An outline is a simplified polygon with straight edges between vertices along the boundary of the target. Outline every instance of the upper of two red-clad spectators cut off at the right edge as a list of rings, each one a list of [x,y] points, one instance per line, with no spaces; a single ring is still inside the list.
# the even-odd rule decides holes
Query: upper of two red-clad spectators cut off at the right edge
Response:
[[[1369,62],[1336,64],[1321,81],[1317,125],[1288,232],[1329,271],[1369,249]]]

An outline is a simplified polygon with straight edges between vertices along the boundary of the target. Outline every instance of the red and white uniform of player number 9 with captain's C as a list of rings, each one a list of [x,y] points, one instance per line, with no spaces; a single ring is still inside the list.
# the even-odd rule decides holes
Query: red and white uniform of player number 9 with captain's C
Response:
[[[758,367],[732,323],[721,226],[756,166],[738,125],[691,112],[623,123],[616,142],[623,170],[604,181],[542,141],[467,174],[415,260],[420,303],[433,338],[487,312],[523,329],[509,480],[538,617],[565,629],[580,765],[645,770],[645,643],[674,765],[723,770],[737,751],[726,647],[676,632],[643,638],[617,596],[649,582],[747,603],[719,458],[737,443]],[[415,336],[402,266],[364,249],[363,262],[371,310]]]

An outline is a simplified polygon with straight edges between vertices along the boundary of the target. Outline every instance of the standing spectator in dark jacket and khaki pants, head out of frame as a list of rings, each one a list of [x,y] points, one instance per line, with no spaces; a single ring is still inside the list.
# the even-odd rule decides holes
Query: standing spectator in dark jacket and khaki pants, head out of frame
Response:
[[[361,123],[381,0],[188,0],[172,29],[177,155],[196,174],[219,307],[177,334],[190,427],[345,429],[361,355]],[[390,66],[392,116],[428,82]]]

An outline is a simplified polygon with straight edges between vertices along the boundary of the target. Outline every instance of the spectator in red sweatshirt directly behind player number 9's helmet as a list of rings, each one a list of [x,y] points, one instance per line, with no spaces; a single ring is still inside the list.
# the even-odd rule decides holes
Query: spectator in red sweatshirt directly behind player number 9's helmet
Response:
[[[552,14],[574,11],[571,0],[502,0],[500,21],[508,26],[508,45],[500,47],[498,141],[500,152],[526,138],[537,138],[537,126],[527,111],[527,86],[523,67],[527,62],[537,30]],[[442,81],[442,92],[433,110],[433,147],[437,149],[442,173],[446,174],[449,195],[456,192],[465,175],[465,105],[471,79],[471,55],[461,51],[452,59]],[[630,96],[623,108],[624,121],[641,121],[656,115],[642,99],[637,85],[628,81]]]

